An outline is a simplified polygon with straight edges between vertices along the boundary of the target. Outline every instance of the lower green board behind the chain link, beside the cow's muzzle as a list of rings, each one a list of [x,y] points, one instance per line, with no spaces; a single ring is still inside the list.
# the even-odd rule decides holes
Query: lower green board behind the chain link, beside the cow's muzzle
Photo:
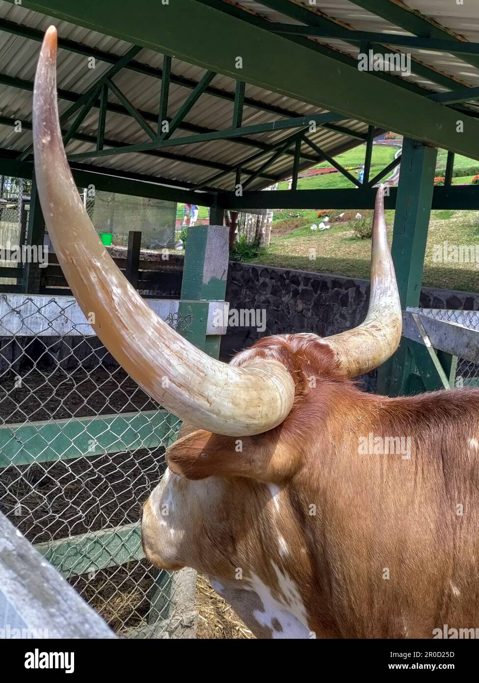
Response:
[[[141,546],[141,522],[38,543],[35,548],[66,578],[145,557]]]

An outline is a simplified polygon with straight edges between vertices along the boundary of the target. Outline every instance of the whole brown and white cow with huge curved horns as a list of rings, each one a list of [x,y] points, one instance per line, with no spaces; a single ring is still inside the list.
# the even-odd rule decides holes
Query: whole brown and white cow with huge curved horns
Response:
[[[50,28],[33,117],[50,238],[98,337],[191,425],[145,504],[147,557],[207,574],[258,637],[478,628],[479,391],[391,399],[351,381],[401,337],[382,193],[362,325],[261,339],[229,365],[211,359],[154,315],[89,222],[61,141],[56,44]]]

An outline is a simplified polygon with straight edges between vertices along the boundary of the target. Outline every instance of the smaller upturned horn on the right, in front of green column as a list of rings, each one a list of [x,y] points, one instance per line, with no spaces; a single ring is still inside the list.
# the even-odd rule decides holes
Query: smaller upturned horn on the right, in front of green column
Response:
[[[347,377],[358,377],[387,361],[401,342],[403,315],[388,247],[384,186],[379,185],[373,219],[371,295],[366,319],[358,327],[324,340]]]

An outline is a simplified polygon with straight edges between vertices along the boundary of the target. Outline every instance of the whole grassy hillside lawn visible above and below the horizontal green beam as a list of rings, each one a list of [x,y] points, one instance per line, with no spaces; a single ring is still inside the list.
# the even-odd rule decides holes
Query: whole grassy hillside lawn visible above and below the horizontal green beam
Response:
[[[371,159],[371,178],[394,158],[398,147],[374,145]],[[365,145],[336,156],[338,163],[349,167],[351,174],[358,177],[358,167],[364,163]],[[444,175],[447,152],[438,150],[436,175]],[[322,162],[315,168],[330,167]],[[355,167],[355,168],[352,168]],[[469,184],[472,175],[479,171],[479,162],[466,156],[454,157],[454,170],[464,169],[464,175],[452,178],[452,184]],[[476,169],[476,170],[474,170]],[[473,173],[474,171],[474,173]],[[278,184],[285,190],[287,182]],[[323,176],[299,178],[298,189],[334,189],[354,187],[342,173],[328,173]],[[178,205],[181,206],[181,205]],[[264,249],[249,262],[313,270],[319,273],[332,273],[350,277],[369,278],[371,259],[371,240],[360,240],[353,234],[355,211],[346,211],[338,219],[340,210],[330,214],[332,227],[322,232],[313,232],[310,226],[319,225],[321,218],[317,210],[276,210],[274,212],[272,239],[268,249]],[[363,216],[371,216],[371,211],[362,211]],[[207,208],[199,208],[199,217],[207,217]],[[394,211],[386,211],[386,221],[392,237]],[[433,245],[444,241],[451,245],[478,245],[479,249],[479,211],[433,211],[429,225],[429,237],[424,260],[423,283],[425,286],[477,292],[479,291],[479,264],[436,264],[433,262]]]

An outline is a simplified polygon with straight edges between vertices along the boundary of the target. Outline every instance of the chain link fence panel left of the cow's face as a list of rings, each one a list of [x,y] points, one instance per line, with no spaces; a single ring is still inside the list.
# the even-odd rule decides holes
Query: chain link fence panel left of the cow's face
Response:
[[[162,317],[184,333],[177,304]],[[143,556],[139,513],[179,421],[71,297],[0,294],[0,378],[0,511],[115,632],[164,637],[171,579]]]

